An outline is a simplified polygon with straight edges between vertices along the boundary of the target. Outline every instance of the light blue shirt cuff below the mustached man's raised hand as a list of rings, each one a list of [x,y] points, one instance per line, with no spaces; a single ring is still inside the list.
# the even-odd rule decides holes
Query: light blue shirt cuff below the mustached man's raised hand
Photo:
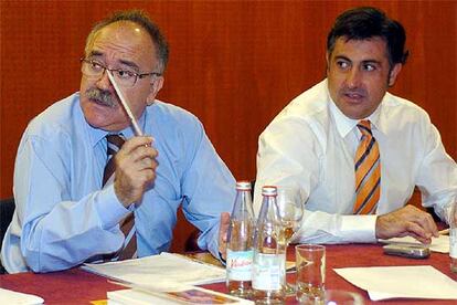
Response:
[[[131,204],[127,209],[120,203],[113,183],[98,191],[94,201],[98,219],[104,230],[115,227],[128,212],[135,210],[135,204]]]

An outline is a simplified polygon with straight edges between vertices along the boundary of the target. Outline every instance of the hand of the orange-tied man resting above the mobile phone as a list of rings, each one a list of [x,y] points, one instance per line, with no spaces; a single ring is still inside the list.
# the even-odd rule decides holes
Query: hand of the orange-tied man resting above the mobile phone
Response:
[[[376,238],[391,239],[413,236],[422,243],[438,236],[438,229],[432,215],[414,206],[406,206],[376,219]]]

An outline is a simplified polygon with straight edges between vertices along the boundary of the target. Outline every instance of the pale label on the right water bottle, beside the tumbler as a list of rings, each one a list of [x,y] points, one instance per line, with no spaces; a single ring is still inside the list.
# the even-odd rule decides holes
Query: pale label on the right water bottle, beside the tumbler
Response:
[[[286,254],[256,253],[253,264],[253,288],[278,291],[285,281]]]

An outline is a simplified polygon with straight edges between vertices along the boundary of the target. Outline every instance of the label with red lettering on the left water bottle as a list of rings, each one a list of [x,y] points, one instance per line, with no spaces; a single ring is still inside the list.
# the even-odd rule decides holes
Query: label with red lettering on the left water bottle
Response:
[[[248,251],[232,251],[227,249],[227,280],[231,281],[251,281],[253,266],[252,250]]]

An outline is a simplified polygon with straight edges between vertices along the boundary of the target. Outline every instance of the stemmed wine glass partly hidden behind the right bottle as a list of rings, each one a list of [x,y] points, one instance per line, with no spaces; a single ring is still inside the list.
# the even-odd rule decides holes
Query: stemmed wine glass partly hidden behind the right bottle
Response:
[[[284,246],[289,245],[290,240],[300,229],[301,219],[304,217],[304,202],[298,188],[295,187],[278,187],[277,188],[277,213],[281,225]],[[285,271],[286,272],[286,271]],[[286,294],[295,294],[295,286],[285,284]]]

